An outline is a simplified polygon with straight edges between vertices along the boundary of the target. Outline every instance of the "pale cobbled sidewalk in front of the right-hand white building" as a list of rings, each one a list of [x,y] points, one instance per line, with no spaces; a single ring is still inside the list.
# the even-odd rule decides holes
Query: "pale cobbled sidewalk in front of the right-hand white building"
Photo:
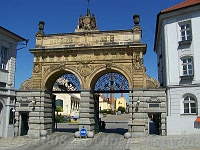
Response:
[[[127,150],[200,150],[200,135],[173,135],[130,138]]]

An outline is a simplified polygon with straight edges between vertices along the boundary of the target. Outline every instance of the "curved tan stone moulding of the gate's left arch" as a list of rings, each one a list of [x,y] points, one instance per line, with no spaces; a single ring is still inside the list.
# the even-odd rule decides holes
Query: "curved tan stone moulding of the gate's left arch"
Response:
[[[50,74],[47,74],[45,77],[43,77],[42,89],[46,89],[46,90],[51,91],[55,81],[60,76],[62,76],[63,74],[67,74],[67,73],[74,74],[78,78],[80,85],[81,86],[83,85],[83,80],[82,80],[81,76],[78,74],[78,72],[71,70],[71,69],[68,69],[68,70],[57,69],[57,70],[54,70],[53,72],[51,72]]]

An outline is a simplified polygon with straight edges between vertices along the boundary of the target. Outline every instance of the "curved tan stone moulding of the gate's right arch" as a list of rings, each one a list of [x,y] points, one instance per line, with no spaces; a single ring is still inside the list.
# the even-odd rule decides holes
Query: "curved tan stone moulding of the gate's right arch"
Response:
[[[133,82],[132,82],[132,79],[131,79],[131,76],[130,74],[128,74],[128,72],[125,70],[125,69],[122,69],[122,67],[120,66],[113,66],[109,69],[105,69],[105,67],[101,67],[101,68],[98,68],[96,69],[89,77],[88,77],[88,82],[86,83],[86,87],[88,89],[94,89],[94,86],[97,82],[97,80],[104,74],[106,73],[110,73],[110,72],[116,72],[116,73],[119,73],[121,75],[123,75],[128,83],[129,83],[129,88],[132,88],[133,87]]]

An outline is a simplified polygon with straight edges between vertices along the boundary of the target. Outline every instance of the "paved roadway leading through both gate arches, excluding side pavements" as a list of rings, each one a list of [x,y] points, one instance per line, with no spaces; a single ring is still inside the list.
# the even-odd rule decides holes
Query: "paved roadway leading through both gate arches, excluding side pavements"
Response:
[[[74,138],[78,125],[58,124],[58,130],[61,132],[35,143],[35,146],[30,145],[27,150],[124,150],[128,141],[124,139],[124,133],[128,131],[127,116],[102,118],[102,121],[106,122],[106,129],[94,138]]]

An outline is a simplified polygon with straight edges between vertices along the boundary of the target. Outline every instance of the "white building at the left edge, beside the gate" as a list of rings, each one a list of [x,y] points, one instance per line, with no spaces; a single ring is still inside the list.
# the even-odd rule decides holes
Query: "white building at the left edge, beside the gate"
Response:
[[[14,137],[16,47],[24,38],[0,26],[0,137]]]

